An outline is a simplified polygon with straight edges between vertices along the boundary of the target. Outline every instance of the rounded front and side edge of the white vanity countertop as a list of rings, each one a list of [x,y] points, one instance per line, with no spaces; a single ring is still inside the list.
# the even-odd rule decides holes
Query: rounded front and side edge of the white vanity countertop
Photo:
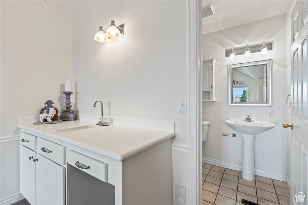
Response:
[[[153,147],[153,146],[155,146],[155,145],[157,145],[157,144],[159,144],[159,143],[161,143],[165,140],[171,139],[172,137],[176,136],[175,132],[170,133],[170,134],[160,138],[159,140],[152,142],[151,144],[147,144],[145,146],[142,146],[142,147],[135,149],[133,152],[124,153],[124,154],[121,155],[121,154],[118,154],[118,153],[115,153],[115,152],[109,152],[109,151],[105,151],[103,149],[95,148],[95,147],[92,147],[92,146],[84,144],[84,143],[79,143],[75,140],[70,140],[70,139],[67,139],[65,137],[61,137],[61,136],[58,136],[58,135],[51,134],[49,132],[44,132],[44,131],[41,131],[41,130],[38,130],[38,129],[30,128],[30,127],[27,127],[26,125],[19,124],[18,128],[25,129],[25,130],[28,130],[28,131],[31,131],[31,132],[35,132],[35,133],[38,133],[40,135],[47,136],[47,137],[50,137],[50,138],[55,139],[55,140],[59,140],[61,142],[76,146],[78,148],[85,149],[89,152],[93,152],[93,153],[96,153],[96,154],[99,154],[99,155],[102,155],[102,156],[105,156],[105,157],[108,157],[110,159],[117,160],[117,161],[123,161],[123,160],[137,154],[137,153],[143,152],[144,150],[147,150],[148,148],[151,148],[151,147]]]

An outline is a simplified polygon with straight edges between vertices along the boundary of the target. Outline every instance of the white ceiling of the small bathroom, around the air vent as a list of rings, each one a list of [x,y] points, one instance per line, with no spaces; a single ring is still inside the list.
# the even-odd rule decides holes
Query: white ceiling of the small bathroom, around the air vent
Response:
[[[264,18],[285,14],[292,0],[203,0],[212,4],[215,14],[202,19],[202,34],[239,26]]]

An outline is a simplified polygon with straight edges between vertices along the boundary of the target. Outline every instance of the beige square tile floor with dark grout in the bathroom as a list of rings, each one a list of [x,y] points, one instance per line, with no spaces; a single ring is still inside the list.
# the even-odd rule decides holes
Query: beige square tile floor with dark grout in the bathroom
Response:
[[[240,171],[205,163],[202,167],[203,205],[240,205],[242,199],[259,205],[290,205],[286,182],[257,175],[255,181],[247,181]]]

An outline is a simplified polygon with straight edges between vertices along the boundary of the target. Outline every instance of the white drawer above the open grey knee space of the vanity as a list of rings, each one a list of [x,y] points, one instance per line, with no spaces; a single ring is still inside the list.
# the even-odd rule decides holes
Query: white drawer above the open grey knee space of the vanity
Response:
[[[103,182],[107,182],[107,164],[85,156],[73,150],[67,152],[67,163],[80,170],[96,177]]]

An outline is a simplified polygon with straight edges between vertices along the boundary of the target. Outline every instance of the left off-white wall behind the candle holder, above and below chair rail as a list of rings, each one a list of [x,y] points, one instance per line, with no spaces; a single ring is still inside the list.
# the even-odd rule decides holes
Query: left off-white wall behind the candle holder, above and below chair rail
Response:
[[[72,2],[1,0],[0,25],[0,137],[7,139],[19,134],[18,117],[37,116],[47,100],[64,108],[61,84],[72,78]],[[19,192],[18,143],[1,143],[0,152],[1,203]]]

